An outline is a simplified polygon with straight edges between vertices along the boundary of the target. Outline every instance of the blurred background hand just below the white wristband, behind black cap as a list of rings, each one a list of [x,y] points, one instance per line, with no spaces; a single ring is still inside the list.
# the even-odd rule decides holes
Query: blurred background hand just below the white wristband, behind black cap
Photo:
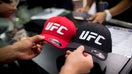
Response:
[[[98,12],[94,16],[91,16],[88,20],[91,21],[92,23],[103,23],[106,18],[106,13],[105,12]]]

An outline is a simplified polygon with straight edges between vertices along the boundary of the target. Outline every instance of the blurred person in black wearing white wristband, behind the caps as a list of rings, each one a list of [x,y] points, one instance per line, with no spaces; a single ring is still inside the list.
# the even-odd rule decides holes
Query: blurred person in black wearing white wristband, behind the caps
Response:
[[[131,0],[87,0],[86,6],[84,8],[77,9],[76,12],[88,12],[91,3],[93,2],[96,2],[97,12],[91,18],[89,18],[90,21],[102,23],[104,21],[109,21],[111,18],[114,18],[125,22],[132,22]],[[101,2],[106,2],[108,5],[103,11],[100,11],[100,7],[102,7],[102,5],[99,3]]]

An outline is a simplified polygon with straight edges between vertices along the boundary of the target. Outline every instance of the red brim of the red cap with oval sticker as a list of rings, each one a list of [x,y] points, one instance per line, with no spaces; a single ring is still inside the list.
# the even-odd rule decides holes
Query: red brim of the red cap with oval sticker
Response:
[[[44,36],[44,40],[49,42],[50,44],[56,46],[57,48],[66,48],[69,42],[64,41],[60,38],[57,38],[56,36],[49,35],[49,34],[41,34],[41,36]]]

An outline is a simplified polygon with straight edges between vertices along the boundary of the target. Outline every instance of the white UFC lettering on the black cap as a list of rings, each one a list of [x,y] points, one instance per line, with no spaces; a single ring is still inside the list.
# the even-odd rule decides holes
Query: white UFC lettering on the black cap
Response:
[[[98,44],[98,45],[102,45],[102,43],[100,43],[100,40],[105,40],[105,38],[102,35],[98,35],[95,32],[90,32],[90,31],[83,31],[79,37],[79,39],[81,40],[87,40],[90,41],[91,39],[94,39],[94,43]]]

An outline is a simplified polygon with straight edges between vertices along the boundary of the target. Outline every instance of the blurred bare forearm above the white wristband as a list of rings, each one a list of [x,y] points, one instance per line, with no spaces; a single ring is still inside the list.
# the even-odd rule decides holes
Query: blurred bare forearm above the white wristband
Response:
[[[122,0],[116,6],[111,8],[109,11],[112,16],[116,16],[116,15],[124,12],[125,10],[127,10],[129,7],[131,7],[131,1],[130,0]]]

